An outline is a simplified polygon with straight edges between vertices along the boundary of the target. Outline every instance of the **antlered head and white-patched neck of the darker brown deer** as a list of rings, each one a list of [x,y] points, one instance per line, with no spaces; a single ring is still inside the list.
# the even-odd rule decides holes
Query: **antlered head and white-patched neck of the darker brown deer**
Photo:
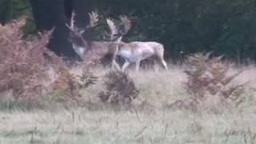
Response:
[[[70,42],[73,45],[74,51],[82,58],[82,55],[85,53],[85,51],[88,49],[88,43],[86,40],[82,37],[82,34],[85,32],[86,29],[90,27],[97,26],[98,22],[98,14],[95,12],[89,13],[90,16],[90,24],[84,28],[78,28],[74,26],[74,12],[72,13],[71,19],[70,19],[70,26],[66,24],[68,29],[70,30]]]

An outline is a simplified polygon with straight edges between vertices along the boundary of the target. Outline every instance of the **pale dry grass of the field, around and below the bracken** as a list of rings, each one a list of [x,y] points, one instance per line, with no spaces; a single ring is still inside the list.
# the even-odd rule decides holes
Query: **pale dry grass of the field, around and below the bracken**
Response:
[[[198,111],[170,109],[170,103],[190,97],[182,86],[183,68],[131,70],[130,77],[140,90],[136,110],[101,104],[96,98],[102,90],[100,79],[83,92],[91,106],[0,110],[0,143],[256,143],[256,68],[239,69],[245,71],[235,82],[251,82],[246,86],[246,101],[238,107],[221,106],[210,98]],[[100,68],[95,75],[106,72]],[[147,105],[142,106],[145,101]]]

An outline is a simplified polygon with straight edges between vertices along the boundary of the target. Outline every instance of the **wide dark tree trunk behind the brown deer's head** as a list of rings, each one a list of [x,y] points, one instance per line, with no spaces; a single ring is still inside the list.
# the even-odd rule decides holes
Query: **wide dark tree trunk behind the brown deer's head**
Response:
[[[30,3],[37,29],[43,31],[55,28],[49,49],[58,55],[77,58],[68,41],[69,30],[65,26],[73,9],[72,0],[30,0]]]

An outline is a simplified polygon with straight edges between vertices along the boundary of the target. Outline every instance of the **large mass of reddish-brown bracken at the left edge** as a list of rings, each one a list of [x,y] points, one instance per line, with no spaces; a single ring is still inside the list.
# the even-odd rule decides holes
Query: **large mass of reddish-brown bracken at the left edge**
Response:
[[[51,95],[56,101],[77,102],[79,91],[94,84],[96,77],[89,67],[82,75],[72,73],[62,58],[47,49],[52,30],[23,37],[25,23],[22,18],[0,26],[0,96],[10,93],[14,101],[35,102]]]

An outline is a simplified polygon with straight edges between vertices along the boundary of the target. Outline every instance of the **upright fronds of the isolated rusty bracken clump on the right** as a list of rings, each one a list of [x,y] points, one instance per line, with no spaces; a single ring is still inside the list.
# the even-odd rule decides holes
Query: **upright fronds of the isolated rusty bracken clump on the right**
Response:
[[[221,62],[222,57],[210,58],[211,53],[194,54],[186,60],[185,73],[188,81],[188,90],[197,101],[203,100],[206,95],[219,96],[237,104],[242,101],[244,84],[232,85],[232,81],[242,71],[229,74],[230,65]]]

